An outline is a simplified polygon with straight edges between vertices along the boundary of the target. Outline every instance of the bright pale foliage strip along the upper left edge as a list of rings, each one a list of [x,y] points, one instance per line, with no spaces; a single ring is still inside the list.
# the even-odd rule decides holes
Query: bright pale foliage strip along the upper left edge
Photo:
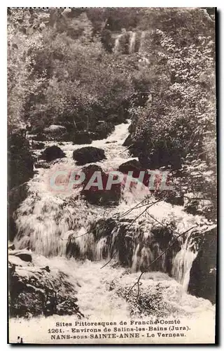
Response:
[[[21,26],[21,21],[23,26]],[[8,15],[8,126],[10,130],[24,126],[27,98],[36,98],[45,82],[45,70],[36,74],[35,53],[41,49],[42,38],[38,32],[27,36],[29,15],[20,8]]]

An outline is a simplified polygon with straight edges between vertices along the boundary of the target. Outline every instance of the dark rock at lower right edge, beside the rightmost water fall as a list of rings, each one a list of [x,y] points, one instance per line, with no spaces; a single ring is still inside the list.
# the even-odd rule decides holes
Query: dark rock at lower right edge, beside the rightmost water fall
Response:
[[[211,303],[216,302],[216,254],[217,234],[216,229],[204,234],[197,257],[190,270],[188,292],[207,298]]]

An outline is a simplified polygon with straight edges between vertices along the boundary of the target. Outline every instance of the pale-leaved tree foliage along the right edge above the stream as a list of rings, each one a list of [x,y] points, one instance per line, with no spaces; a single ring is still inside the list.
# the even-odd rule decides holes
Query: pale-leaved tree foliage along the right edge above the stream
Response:
[[[188,11],[185,13],[186,20],[193,20],[193,14],[195,20],[203,18],[201,10],[190,13],[190,18]],[[145,39],[144,55],[152,101],[132,108],[130,113],[136,121],[133,143],[147,140],[144,152],[151,159],[159,154],[160,166],[174,166],[167,155],[176,159],[177,152],[184,175],[179,179],[177,195],[190,193],[193,201],[200,197],[208,200],[209,205],[202,206],[201,212],[211,219],[216,217],[216,101],[214,27],[210,27],[210,18],[207,22],[207,32],[202,20],[197,28],[177,25],[173,32],[169,27],[166,32],[151,31]],[[183,30],[187,43],[180,40]]]

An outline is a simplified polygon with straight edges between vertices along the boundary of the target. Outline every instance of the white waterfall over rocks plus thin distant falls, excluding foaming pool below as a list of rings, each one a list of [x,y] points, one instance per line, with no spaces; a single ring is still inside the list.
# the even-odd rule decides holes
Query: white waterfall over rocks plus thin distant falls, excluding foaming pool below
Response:
[[[132,45],[134,38],[133,33]],[[119,38],[117,39],[119,41]],[[96,163],[104,172],[116,170],[120,164],[133,159],[123,147],[129,135],[130,123],[131,121],[120,124],[108,138],[92,142],[92,146],[101,147],[105,151],[106,159]],[[55,143],[45,142],[45,146],[53,144]],[[83,146],[86,145],[63,143],[60,147],[66,157],[52,162],[48,169],[38,168],[36,176],[29,181],[28,197],[15,213],[18,228],[18,235],[14,239],[15,248],[28,248],[46,257],[75,257],[91,261],[113,258],[130,267],[132,272],[144,269],[172,273],[187,289],[190,268],[196,257],[196,253],[191,251],[190,237],[181,242],[175,250],[168,251],[151,268],[153,260],[160,256],[173,238],[172,234],[166,232],[165,227],[156,227],[157,223],[152,218],[154,216],[160,222],[169,216],[173,218],[174,208],[160,201],[148,209],[151,217],[148,217],[147,213],[142,217],[143,208],[137,206],[139,202],[144,201],[146,197],[147,201],[155,201],[148,187],[142,185],[141,189],[135,186],[131,189],[123,188],[118,206],[113,207],[88,204],[81,196],[80,188],[57,194],[50,190],[49,179],[52,173],[59,170],[71,172],[74,167],[81,169],[80,166],[75,166],[72,153]],[[147,202],[145,206],[146,204]],[[129,212],[130,208],[134,209]],[[125,217],[123,213],[127,213]],[[186,214],[180,206],[176,206],[175,216],[179,218],[176,223],[180,232],[186,230],[186,227],[181,227],[182,218],[185,218],[185,225],[188,225],[188,221],[189,226],[193,223],[194,216]],[[105,223],[109,218],[117,219],[114,220],[116,223],[110,232],[106,232],[104,225],[100,227],[99,223]],[[134,223],[130,226],[133,220]],[[96,232],[92,232],[94,227],[98,228]],[[167,269],[170,261],[172,267]]]

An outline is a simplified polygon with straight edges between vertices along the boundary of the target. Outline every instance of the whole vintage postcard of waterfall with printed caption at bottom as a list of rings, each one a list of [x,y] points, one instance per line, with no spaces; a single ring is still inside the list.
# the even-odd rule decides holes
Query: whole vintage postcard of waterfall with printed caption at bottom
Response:
[[[8,7],[8,343],[216,343],[212,7]]]

